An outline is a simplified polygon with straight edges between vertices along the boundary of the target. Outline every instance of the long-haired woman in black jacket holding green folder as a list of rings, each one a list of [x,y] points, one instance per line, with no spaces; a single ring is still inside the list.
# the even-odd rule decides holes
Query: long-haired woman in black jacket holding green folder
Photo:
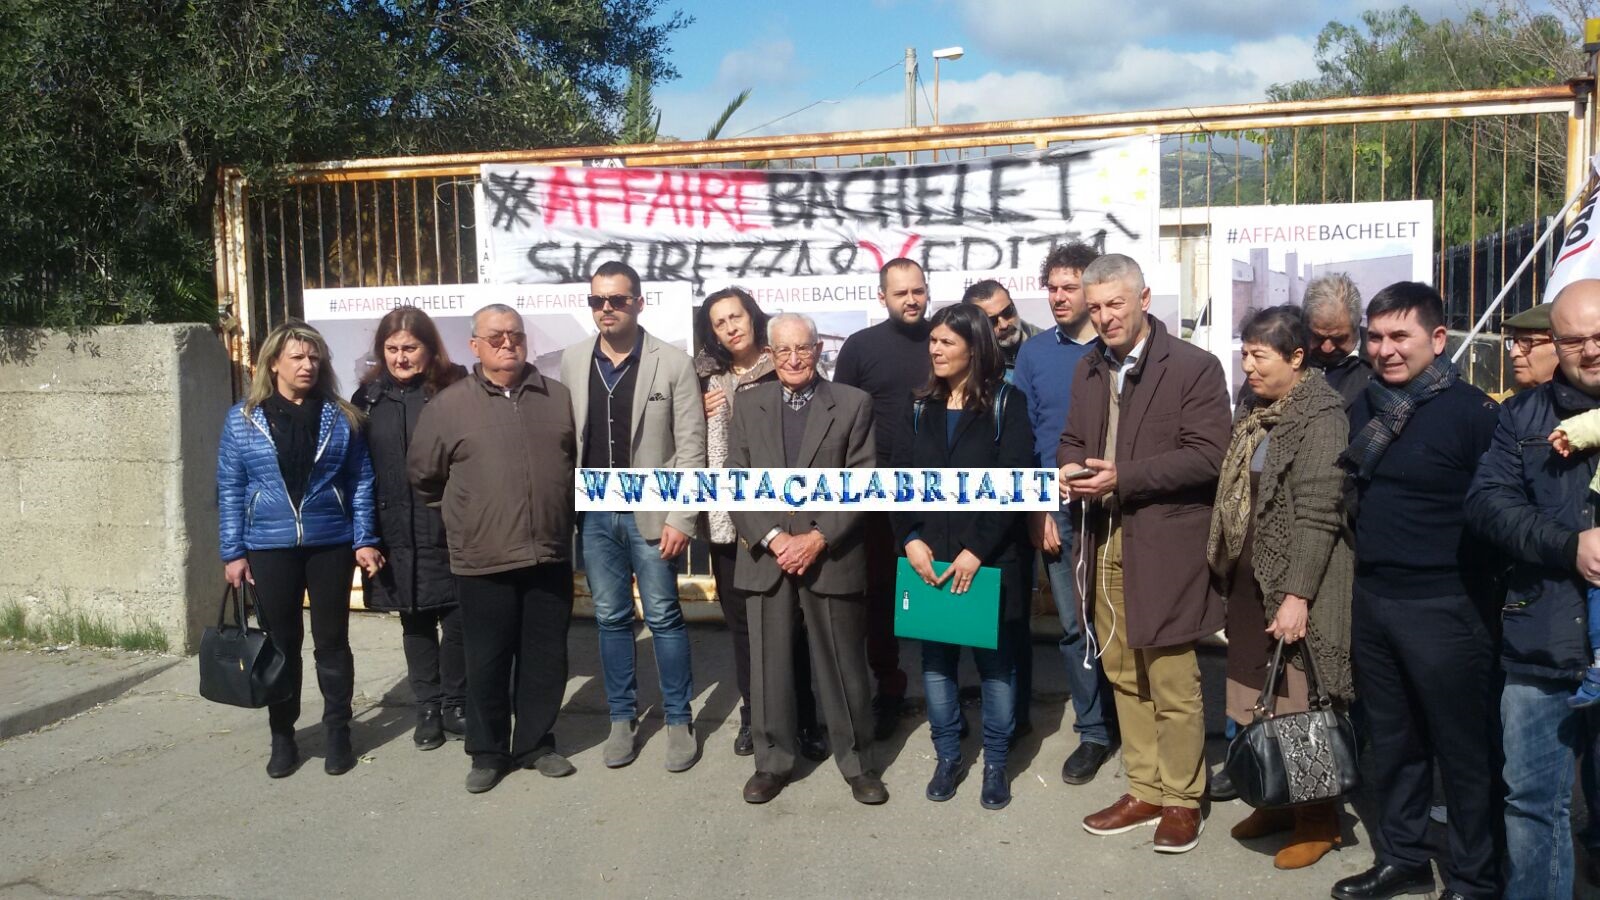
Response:
[[[1005,357],[989,319],[976,306],[957,304],[938,311],[931,323],[928,357],[933,376],[906,413],[910,423],[901,434],[907,439],[893,448],[893,466],[1032,466],[1034,437],[1027,402],[1021,391],[1005,384]],[[902,509],[890,519],[906,548],[906,559],[923,581],[944,586],[952,594],[965,594],[981,565],[995,567],[1000,569],[998,615],[1005,621],[1027,615],[1032,549],[1022,514]],[[973,597],[973,602],[982,601],[994,602],[994,597]],[[1002,628],[994,650],[973,647],[984,701],[984,809],[1003,809],[1011,802],[1005,765],[1014,727],[1014,653],[1027,652],[1027,647],[1014,647],[1010,634],[1011,629]],[[960,655],[958,644],[922,644],[928,725],[938,753],[938,765],[928,781],[931,801],[954,798],[962,777],[962,711],[955,679]]]

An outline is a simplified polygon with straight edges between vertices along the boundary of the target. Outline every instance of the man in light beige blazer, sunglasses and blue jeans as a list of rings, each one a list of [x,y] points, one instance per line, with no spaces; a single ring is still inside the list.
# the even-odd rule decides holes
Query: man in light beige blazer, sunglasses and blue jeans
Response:
[[[587,469],[706,464],[706,408],[688,354],[638,327],[638,272],[605,263],[589,280],[589,309],[600,335],[562,354],[562,383],[573,394],[578,464]],[[678,605],[675,560],[694,530],[693,511],[584,512],[578,525],[584,577],[600,626],[600,669],[611,735],[602,759],[611,769],[638,756],[638,681],[634,674],[634,578],[661,676],[667,721],[667,770],[699,757],[691,725],[690,636]]]

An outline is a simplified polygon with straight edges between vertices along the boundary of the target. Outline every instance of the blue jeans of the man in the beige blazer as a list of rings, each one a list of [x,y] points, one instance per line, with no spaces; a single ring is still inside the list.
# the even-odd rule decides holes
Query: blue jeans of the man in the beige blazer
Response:
[[[690,636],[678,605],[677,564],[661,559],[661,543],[638,533],[632,512],[584,512],[578,532],[584,578],[600,626],[600,669],[611,721],[638,716],[638,679],[634,676],[634,578],[645,607],[645,625],[656,645],[661,705],[669,725],[690,722],[694,676],[690,673]]]

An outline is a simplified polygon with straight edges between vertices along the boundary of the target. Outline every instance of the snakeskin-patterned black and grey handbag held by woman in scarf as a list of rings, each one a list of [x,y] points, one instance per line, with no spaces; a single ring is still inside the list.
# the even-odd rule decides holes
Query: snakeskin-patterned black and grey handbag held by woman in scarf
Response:
[[[1301,645],[1306,660],[1306,687],[1310,709],[1274,713],[1278,676],[1283,666],[1283,639],[1272,650],[1267,684],[1251,709],[1253,719],[1227,745],[1222,769],[1238,790],[1238,798],[1256,809],[1278,809],[1325,802],[1354,791],[1362,783],[1357,767],[1355,729],[1333,708],[1317,677],[1310,637]]]

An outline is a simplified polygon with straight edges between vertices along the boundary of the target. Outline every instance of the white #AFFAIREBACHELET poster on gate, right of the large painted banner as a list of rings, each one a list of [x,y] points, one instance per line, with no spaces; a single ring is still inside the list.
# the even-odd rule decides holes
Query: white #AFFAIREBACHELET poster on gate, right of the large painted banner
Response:
[[[1363,301],[1395,282],[1432,282],[1434,202],[1211,210],[1211,315],[1203,346],[1243,381],[1238,325],[1253,309],[1301,304],[1306,285],[1346,274]],[[1195,343],[1202,343],[1197,336]]]

